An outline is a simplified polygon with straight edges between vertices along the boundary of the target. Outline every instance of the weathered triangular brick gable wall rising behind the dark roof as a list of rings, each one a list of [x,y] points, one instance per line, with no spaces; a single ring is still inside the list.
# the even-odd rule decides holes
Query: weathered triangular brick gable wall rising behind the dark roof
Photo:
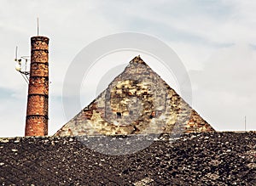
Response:
[[[214,132],[140,56],[56,136]]]

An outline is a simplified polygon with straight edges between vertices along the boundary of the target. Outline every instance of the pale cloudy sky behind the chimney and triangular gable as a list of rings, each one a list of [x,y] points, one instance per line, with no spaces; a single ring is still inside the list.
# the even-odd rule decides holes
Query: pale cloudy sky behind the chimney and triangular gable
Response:
[[[72,110],[67,116],[62,103],[62,88],[73,59],[91,42],[126,31],[156,37],[175,51],[189,74],[192,107],[212,127],[242,131],[246,116],[247,130],[256,130],[255,1],[0,2],[0,137],[24,136],[27,84],[15,70],[15,47],[19,47],[19,56],[30,55],[37,17],[39,35],[50,39],[49,135],[79,112]],[[80,109],[90,104],[137,54],[125,51],[100,59],[102,65],[89,73],[96,78],[88,83],[90,78],[85,78],[81,86]],[[175,77],[168,76],[149,55],[141,56],[179,93]],[[116,63],[109,65],[109,60]],[[102,78],[106,74],[108,78]]]

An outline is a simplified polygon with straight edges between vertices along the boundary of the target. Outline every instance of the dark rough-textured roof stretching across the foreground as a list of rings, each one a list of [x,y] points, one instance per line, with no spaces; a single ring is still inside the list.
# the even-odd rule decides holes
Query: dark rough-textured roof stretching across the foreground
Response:
[[[137,135],[138,143],[153,144],[128,155],[104,155],[84,144],[92,140],[99,148],[106,138],[130,137],[0,138],[0,183],[256,185],[255,132],[189,133],[177,140],[170,134]]]

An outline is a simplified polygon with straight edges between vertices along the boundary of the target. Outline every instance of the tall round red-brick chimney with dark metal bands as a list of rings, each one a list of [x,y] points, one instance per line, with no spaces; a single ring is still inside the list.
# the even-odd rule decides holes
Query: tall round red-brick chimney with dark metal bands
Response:
[[[25,136],[48,135],[48,37],[31,37]]]

